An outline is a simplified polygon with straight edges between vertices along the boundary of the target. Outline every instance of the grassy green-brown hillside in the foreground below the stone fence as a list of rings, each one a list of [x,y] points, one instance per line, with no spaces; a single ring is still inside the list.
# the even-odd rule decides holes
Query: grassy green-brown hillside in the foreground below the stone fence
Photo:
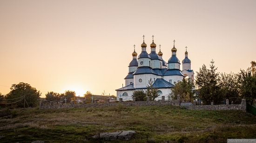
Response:
[[[100,132],[134,130],[128,142],[223,142],[256,138],[256,116],[242,111],[195,111],[176,106],[129,106],[56,110],[1,110],[0,142],[106,142]],[[7,112],[6,114],[4,112]],[[125,142],[116,140],[115,142]]]

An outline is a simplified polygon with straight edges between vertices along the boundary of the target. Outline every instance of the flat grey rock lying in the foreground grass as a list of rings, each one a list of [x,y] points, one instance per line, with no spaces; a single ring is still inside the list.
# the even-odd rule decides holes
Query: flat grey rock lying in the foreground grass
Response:
[[[115,131],[115,132],[102,132],[100,134],[96,134],[93,138],[104,138],[105,140],[129,140],[135,134],[135,131]]]

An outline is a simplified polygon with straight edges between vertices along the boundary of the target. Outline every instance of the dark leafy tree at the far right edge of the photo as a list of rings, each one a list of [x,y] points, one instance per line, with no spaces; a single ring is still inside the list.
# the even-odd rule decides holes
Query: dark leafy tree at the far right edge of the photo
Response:
[[[246,99],[252,105],[253,100],[256,99],[256,75],[252,75],[252,71],[249,68],[241,70],[238,73],[238,83],[241,98]]]

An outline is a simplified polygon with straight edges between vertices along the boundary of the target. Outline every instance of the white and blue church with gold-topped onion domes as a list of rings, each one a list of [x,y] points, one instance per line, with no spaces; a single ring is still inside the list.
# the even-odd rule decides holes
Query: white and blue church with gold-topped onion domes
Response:
[[[175,83],[182,81],[183,78],[188,77],[194,79],[194,71],[191,70],[191,61],[188,58],[188,51],[186,47],[185,58],[182,60],[182,70],[180,69],[180,61],[176,56],[177,49],[174,46],[171,49],[172,55],[168,62],[163,60],[163,53],[160,50],[156,53],[156,44],[154,43],[154,36],[152,44],[150,44],[151,52],[147,52],[147,44],[141,44],[141,54],[137,58],[137,53],[132,53],[133,59],[128,66],[128,75],[124,78],[125,87],[116,89],[117,100],[122,98],[123,101],[132,100],[132,93],[134,90],[147,89],[148,81],[153,81],[153,87],[158,89],[159,96],[155,100],[161,100],[162,96],[168,100],[168,95],[171,93],[171,88]]]

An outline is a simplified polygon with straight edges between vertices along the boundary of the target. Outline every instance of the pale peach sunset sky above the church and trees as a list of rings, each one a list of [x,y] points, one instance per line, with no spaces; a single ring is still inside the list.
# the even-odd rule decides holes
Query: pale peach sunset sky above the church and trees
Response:
[[[194,71],[213,59],[237,73],[256,60],[256,0],[0,0],[0,93],[26,82],[42,97],[116,95],[142,35],[165,61],[175,39]]]

